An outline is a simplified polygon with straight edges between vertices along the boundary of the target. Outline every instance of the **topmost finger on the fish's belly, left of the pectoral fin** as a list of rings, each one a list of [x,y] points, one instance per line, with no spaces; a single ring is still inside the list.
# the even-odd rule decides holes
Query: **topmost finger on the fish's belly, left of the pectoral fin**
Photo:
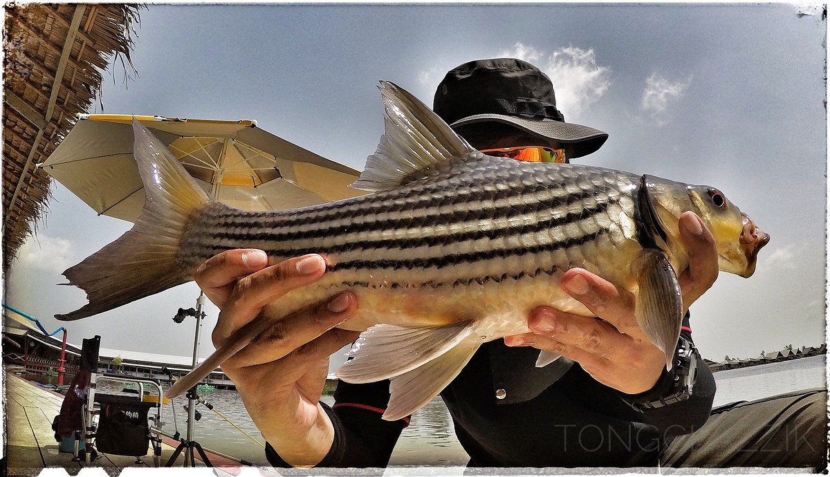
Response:
[[[581,268],[566,271],[560,283],[563,290],[584,304],[591,313],[620,332],[637,338],[645,336],[634,318],[634,295],[627,290]]]

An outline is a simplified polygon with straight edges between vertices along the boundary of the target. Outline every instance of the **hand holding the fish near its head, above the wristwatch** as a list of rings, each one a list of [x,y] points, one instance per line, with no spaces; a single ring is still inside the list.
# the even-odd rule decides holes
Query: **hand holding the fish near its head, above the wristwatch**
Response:
[[[689,268],[677,277],[684,313],[718,275],[715,238],[694,212],[680,217],[681,242]],[[637,325],[634,295],[580,268],[568,270],[563,290],[600,319],[540,307],[530,313],[531,333],[505,338],[508,346],[533,346],[573,359],[598,382],[627,394],[646,392],[657,383],[666,357]]]

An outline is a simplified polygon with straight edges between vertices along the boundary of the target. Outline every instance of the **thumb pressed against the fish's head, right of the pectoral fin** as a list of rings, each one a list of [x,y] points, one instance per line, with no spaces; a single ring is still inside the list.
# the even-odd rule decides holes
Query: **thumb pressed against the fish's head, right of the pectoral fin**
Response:
[[[715,283],[719,271],[718,252],[715,237],[694,212],[684,212],[679,225],[681,243],[689,256],[689,268],[678,280],[684,307],[688,308]]]

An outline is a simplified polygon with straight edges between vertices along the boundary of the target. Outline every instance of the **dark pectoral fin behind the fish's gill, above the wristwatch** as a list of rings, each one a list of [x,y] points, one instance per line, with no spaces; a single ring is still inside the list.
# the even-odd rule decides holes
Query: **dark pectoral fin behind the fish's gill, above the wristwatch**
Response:
[[[671,371],[677,338],[683,323],[683,297],[675,270],[661,251],[645,250],[632,263],[639,290],[634,305],[637,324],[666,354]]]

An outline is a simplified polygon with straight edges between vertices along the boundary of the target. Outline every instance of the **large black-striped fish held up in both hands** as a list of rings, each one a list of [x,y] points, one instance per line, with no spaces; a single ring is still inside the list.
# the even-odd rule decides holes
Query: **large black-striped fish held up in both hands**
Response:
[[[393,421],[436,397],[482,343],[529,332],[531,309],[593,316],[559,285],[573,267],[635,295],[637,324],[671,369],[685,313],[677,276],[689,266],[681,213],[696,212],[712,231],[721,271],[753,275],[769,242],[715,187],[491,157],[408,91],[388,81],[379,89],[384,132],[353,184],[372,193],[290,210],[244,212],[212,199],[133,121],[144,212],[64,272],[89,303],[56,318],[85,318],[193,280],[222,251],[257,248],[276,260],[319,253],[320,280],[266,305],[167,397],[195,386],[291,312],[352,290],[358,309],[339,328],[362,333],[337,376],[389,379],[383,419]],[[542,351],[536,364],[558,358]]]

